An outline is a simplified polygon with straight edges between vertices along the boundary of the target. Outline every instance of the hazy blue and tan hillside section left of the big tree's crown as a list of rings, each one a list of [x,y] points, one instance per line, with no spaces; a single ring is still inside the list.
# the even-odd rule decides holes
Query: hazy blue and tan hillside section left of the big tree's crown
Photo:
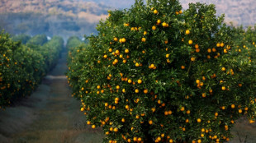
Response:
[[[13,35],[70,35],[95,33],[109,7],[82,0],[1,0],[0,27]]]

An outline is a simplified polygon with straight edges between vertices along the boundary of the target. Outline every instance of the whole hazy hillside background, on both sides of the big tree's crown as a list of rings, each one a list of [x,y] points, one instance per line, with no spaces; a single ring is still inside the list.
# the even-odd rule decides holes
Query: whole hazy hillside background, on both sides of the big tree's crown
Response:
[[[234,25],[256,23],[254,0],[180,0],[187,9],[189,2],[215,3],[217,15],[225,13],[225,22]],[[69,36],[97,33],[97,22],[107,17],[107,10],[127,8],[133,0],[0,0],[0,27],[17,35]],[[112,8],[111,8],[112,7]]]

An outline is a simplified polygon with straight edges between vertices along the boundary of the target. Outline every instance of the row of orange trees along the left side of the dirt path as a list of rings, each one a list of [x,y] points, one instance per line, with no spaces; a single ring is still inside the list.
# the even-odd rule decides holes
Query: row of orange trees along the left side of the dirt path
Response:
[[[10,35],[0,34],[0,108],[36,89],[45,73],[54,67],[64,41],[45,35],[36,35],[27,44],[14,41]]]

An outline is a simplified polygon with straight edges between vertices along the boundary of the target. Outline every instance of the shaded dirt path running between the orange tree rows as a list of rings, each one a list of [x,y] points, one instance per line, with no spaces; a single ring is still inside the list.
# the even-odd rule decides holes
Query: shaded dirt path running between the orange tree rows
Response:
[[[71,97],[64,76],[65,53],[45,77],[36,92],[15,107],[0,112],[0,142],[14,143],[98,143],[102,131],[92,130]]]

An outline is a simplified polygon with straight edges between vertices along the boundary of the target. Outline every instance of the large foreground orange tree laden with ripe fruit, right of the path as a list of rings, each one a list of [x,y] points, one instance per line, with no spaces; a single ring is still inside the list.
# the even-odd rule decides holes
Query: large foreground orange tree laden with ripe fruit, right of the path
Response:
[[[69,84],[104,142],[225,142],[255,116],[255,67],[214,5],[135,1],[69,52]],[[240,55],[240,56],[238,56]]]

